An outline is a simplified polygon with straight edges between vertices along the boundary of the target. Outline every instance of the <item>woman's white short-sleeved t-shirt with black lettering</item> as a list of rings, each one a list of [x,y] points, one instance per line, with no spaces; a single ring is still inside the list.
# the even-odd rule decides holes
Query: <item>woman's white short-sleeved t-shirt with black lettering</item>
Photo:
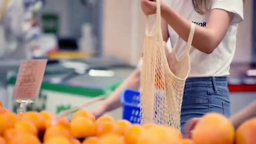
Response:
[[[192,5],[192,0],[166,0],[167,3],[179,14],[195,24],[205,27],[209,14],[197,13]],[[236,35],[238,23],[243,21],[243,0],[213,0],[211,9],[223,9],[235,13],[227,34],[219,46],[211,54],[206,54],[191,48],[189,53],[191,71],[189,77],[218,77],[229,75],[229,65],[235,54]],[[184,40],[168,26],[171,46],[176,45],[176,54],[181,57],[184,53]]]

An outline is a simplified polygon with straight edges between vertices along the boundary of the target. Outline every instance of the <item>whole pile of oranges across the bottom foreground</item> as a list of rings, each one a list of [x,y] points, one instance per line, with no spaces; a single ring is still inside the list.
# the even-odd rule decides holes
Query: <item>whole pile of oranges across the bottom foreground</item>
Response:
[[[156,124],[133,125],[102,116],[97,120],[86,110],[53,123],[50,112],[16,115],[0,103],[0,144],[256,144],[256,119],[235,131],[219,114],[205,115],[196,125],[192,139],[172,127]]]

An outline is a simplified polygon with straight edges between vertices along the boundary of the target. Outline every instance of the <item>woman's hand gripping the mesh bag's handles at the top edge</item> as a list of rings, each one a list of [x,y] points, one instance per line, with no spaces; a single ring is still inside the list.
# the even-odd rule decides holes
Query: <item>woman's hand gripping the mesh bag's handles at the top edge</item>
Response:
[[[166,5],[164,0],[161,0],[161,7]],[[145,15],[152,15],[156,13],[157,4],[156,0],[141,0],[141,9]]]

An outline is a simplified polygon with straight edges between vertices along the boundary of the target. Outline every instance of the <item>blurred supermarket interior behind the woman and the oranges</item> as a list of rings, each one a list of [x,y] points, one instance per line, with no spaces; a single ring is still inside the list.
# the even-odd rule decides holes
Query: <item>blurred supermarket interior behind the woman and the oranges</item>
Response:
[[[141,57],[145,19],[139,0],[21,0],[4,8],[6,1],[0,0],[0,9],[5,9],[0,24],[14,30],[0,31],[0,37],[7,37],[2,40],[7,46],[1,47],[14,46],[0,53],[0,99],[13,111],[17,105],[12,92],[24,59],[48,59],[40,94],[27,109],[58,114],[93,97],[108,96]],[[5,22],[5,17],[17,15],[22,17],[18,22]],[[244,17],[229,76],[232,113],[256,99],[255,1],[248,0]],[[109,113],[115,118],[121,114],[122,109]]]

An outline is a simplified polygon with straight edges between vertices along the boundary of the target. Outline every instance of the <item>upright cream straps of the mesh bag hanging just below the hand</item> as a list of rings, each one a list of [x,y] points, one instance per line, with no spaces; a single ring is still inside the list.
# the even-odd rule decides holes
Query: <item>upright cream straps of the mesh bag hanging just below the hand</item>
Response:
[[[161,0],[156,0],[156,22],[154,34],[161,34]],[[149,16],[146,17],[146,35],[149,35]],[[162,36],[161,36],[162,37]]]

